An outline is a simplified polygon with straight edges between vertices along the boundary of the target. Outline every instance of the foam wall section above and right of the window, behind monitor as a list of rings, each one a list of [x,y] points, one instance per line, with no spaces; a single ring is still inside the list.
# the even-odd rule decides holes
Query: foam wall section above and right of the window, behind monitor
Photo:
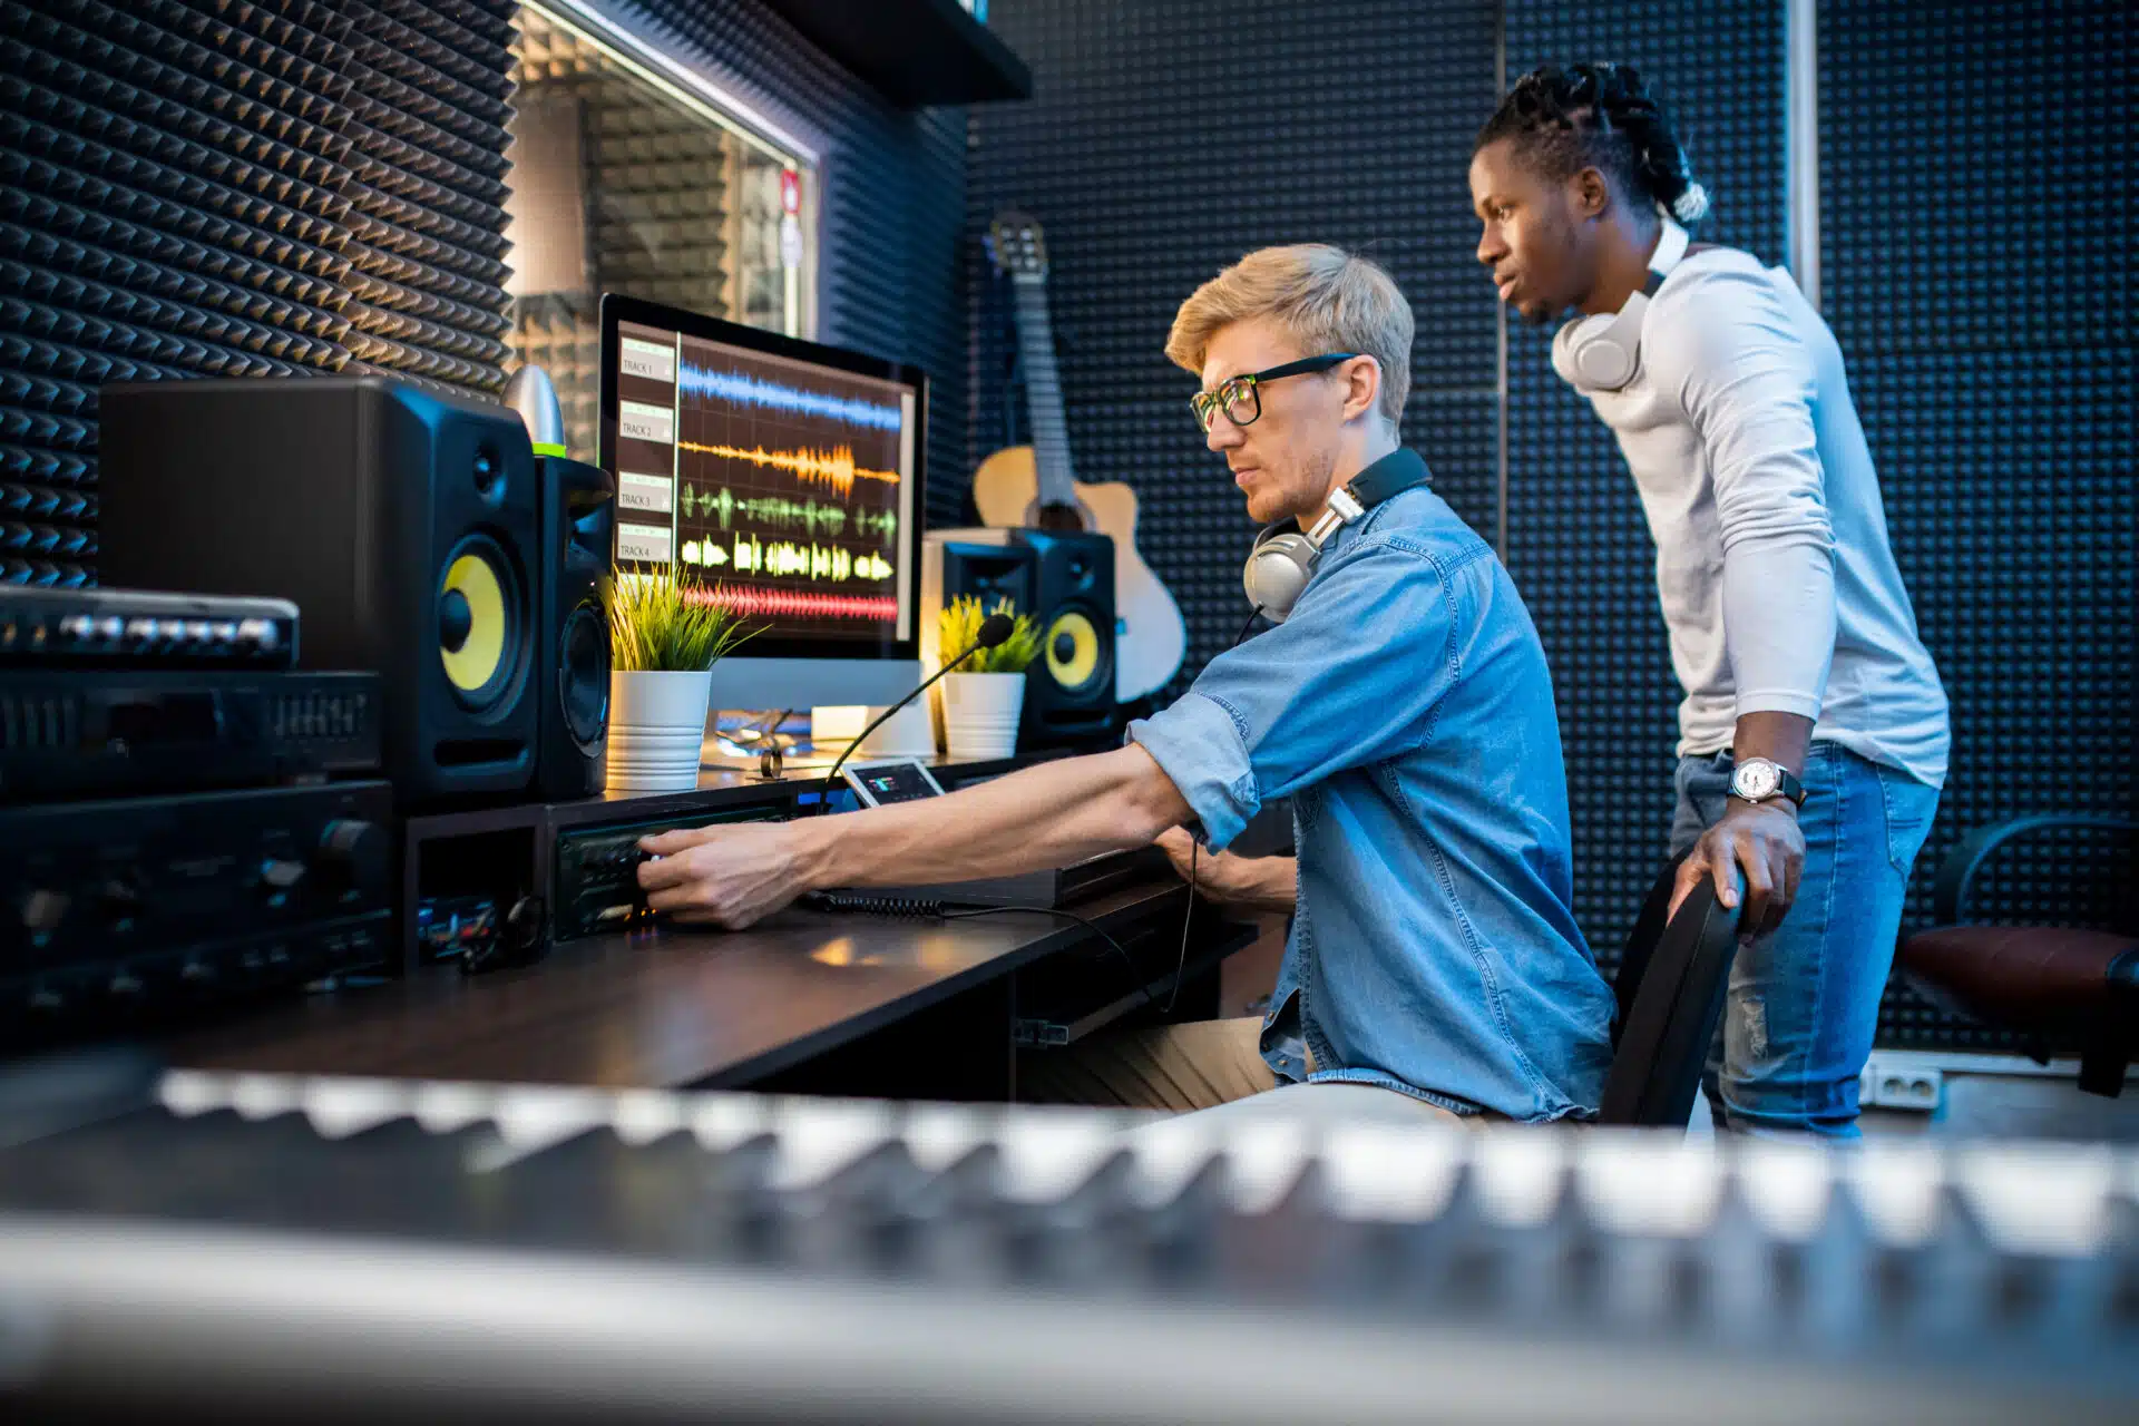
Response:
[[[965,109],[892,107],[759,0],[618,0],[614,11],[817,148],[817,340],[928,372],[928,520],[956,522],[971,472]]]

